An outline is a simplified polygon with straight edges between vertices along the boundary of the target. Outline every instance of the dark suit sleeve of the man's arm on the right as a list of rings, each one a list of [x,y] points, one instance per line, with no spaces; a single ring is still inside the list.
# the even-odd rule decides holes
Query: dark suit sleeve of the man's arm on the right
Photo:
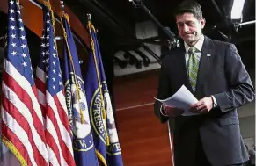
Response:
[[[226,50],[225,76],[230,89],[214,95],[221,112],[228,112],[254,100],[252,81],[247,73],[237,48],[231,44]]]

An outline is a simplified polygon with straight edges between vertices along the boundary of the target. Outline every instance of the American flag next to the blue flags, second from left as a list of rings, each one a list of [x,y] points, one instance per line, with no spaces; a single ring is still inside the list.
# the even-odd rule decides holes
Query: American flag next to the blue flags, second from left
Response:
[[[43,5],[43,32],[40,61],[36,69],[36,85],[45,118],[49,162],[53,166],[75,166],[71,131],[62,73],[55,43],[54,18],[49,4]]]

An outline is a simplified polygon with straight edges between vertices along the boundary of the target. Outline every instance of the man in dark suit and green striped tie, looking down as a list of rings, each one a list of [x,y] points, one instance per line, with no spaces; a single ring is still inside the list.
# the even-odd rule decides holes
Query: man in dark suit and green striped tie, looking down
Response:
[[[180,4],[175,16],[184,46],[163,59],[157,98],[172,96],[184,84],[199,100],[190,112],[200,113],[186,117],[179,108],[155,103],[162,123],[174,121],[175,166],[243,165],[248,155],[237,108],[254,100],[250,76],[233,44],[201,34],[200,4]]]

